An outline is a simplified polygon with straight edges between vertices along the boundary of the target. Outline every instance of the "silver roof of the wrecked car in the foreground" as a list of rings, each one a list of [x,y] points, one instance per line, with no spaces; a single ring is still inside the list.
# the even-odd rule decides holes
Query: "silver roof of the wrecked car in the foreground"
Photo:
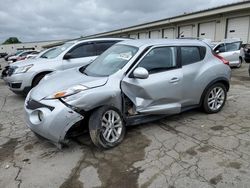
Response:
[[[200,40],[191,39],[138,39],[138,40],[126,40],[119,44],[142,47],[142,46],[155,46],[155,45],[202,45],[206,46],[206,43]]]

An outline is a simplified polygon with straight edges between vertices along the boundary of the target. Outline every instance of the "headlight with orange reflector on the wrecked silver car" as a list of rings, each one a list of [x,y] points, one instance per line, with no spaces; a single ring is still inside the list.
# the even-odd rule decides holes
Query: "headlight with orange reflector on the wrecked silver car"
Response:
[[[60,98],[68,97],[70,95],[77,94],[77,93],[84,91],[86,89],[88,89],[86,86],[75,85],[75,86],[70,87],[66,90],[59,91],[59,92],[54,93],[53,95],[45,97],[45,99],[60,99]]]

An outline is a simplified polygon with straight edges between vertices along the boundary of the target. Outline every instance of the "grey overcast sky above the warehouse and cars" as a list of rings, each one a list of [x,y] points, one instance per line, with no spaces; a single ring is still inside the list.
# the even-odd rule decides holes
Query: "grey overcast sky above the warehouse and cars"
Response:
[[[239,0],[3,0],[0,43],[70,39]]]

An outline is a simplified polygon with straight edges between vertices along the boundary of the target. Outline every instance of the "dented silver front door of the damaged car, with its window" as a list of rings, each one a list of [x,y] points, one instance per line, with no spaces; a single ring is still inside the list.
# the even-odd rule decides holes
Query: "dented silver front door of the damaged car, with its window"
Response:
[[[128,74],[121,83],[123,93],[135,110],[145,114],[175,114],[181,111],[182,71],[176,47],[154,47],[137,63],[148,70],[147,79]]]

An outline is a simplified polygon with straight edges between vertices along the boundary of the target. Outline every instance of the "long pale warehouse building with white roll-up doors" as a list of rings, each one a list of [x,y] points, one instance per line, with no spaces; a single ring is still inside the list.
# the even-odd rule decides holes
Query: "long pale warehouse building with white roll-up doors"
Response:
[[[244,43],[250,43],[249,27],[250,1],[243,1],[86,36],[86,38],[107,36],[139,39],[199,37],[212,41],[240,38]]]

